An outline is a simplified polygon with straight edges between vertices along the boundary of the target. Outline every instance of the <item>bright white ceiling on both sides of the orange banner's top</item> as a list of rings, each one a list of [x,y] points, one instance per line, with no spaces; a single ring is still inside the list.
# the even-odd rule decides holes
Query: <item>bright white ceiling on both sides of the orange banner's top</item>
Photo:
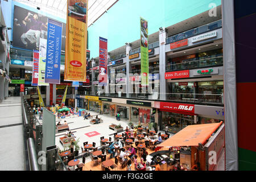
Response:
[[[67,0],[14,0],[24,5],[40,8],[44,13],[67,19]],[[88,27],[118,0],[88,0]]]

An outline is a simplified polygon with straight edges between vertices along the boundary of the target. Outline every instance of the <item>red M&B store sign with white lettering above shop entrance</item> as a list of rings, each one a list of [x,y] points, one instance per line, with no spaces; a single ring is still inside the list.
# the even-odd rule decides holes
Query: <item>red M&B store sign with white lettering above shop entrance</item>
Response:
[[[180,104],[180,103],[171,103],[171,102],[160,102],[159,104],[155,103],[155,107],[159,107],[159,109],[170,110],[175,113],[185,112],[186,114],[195,114],[195,105],[192,104]]]

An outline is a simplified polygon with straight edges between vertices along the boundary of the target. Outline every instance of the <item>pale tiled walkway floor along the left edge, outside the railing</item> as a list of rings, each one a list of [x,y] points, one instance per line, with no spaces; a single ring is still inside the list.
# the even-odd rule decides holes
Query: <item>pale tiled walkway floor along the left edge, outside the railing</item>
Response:
[[[0,171],[23,171],[24,142],[20,97],[0,104]]]

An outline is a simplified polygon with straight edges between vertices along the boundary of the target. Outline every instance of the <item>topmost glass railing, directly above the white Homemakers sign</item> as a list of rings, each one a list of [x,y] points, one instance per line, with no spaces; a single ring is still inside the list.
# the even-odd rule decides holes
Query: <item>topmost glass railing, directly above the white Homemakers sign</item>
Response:
[[[204,34],[206,32],[213,31],[213,30],[216,30],[221,27],[222,27],[222,20],[217,20],[216,22],[205,24],[204,26],[193,28],[191,30],[182,32],[180,34],[171,36],[170,38],[166,39],[166,44],[174,43],[179,40],[183,40],[183,39],[191,38],[196,35]]]

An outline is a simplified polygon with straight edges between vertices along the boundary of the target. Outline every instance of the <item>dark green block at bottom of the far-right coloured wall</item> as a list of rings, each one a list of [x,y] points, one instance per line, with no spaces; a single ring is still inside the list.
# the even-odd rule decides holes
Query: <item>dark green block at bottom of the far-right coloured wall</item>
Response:
[[[240,171],[255,171],[256,152],[238,148],[238,169]]]

